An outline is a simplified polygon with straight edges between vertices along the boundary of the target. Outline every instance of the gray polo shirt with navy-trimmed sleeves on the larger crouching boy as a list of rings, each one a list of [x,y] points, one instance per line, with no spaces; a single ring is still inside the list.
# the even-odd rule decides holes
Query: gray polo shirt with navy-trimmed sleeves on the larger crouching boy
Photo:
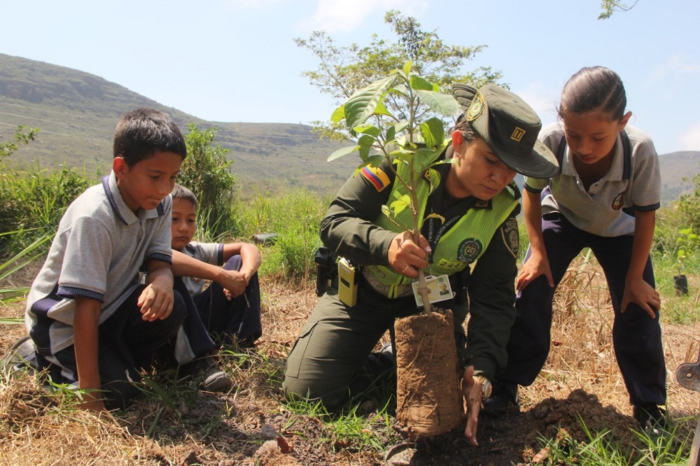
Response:
[[[114,172],[73,201],[27,298],[25,325],[39,353],[73,344],[75,297],[101,302],[102,324],[139,285],[146,261],[172,263],[171,210],[168,195],[155,209],[134,213]]]

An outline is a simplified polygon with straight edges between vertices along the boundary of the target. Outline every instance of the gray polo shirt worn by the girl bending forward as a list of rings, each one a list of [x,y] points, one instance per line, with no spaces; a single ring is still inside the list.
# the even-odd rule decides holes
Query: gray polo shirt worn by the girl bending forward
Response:
[[[627,125],[630,153],[625,157],[622,138],[617,136],[612,167],[601,180],[584,189],[568,146],[561,160],[561,174],[551,180],[525,178],[525,189],[541,192],[549,184],[551,193],[542,199],[542,214],[559,212],[575,227],[598,236],[634,233],[634,218],[622,211],[654,211],[661,206],[659,156],[654,143],[640,129]],[[542,128],[540,140],[557,153],[563,136],[559,123]]]

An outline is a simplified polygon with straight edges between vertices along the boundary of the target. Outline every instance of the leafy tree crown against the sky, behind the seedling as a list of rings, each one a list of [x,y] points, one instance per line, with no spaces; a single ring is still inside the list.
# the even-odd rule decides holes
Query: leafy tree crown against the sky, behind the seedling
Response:
[[[304,71],[303,75],[321,92],[335,97],[338,105],[357,90],[388,76],[395,69],[401,69],[407,62],[412,62],[414,73],[443,89],[451,83],[470,83],[480,87],[503,78],[500,71],[490,66],[462,70],[465,60],[472,59],[486,45],[448,45],[435,31],[424,31],[415,18],[404,17],[397,10],[388,11],[384,22],[390,24],[396,34],[395,42],[372,34],[370,45],[365,47],[356,43],[339,47],[325,31],[314,31],[307,39],[295,38],[299,47],[313,52],[319,61],[316,70]],[[402,99],[389,95],[384,104],[397,118],[407,118]],[[416,119],[421,121],[430,116],[433,115],[427,106],[421,106]],[[336,140],[348,136],[339,122],[314,121],[312,124],[321,136]]]

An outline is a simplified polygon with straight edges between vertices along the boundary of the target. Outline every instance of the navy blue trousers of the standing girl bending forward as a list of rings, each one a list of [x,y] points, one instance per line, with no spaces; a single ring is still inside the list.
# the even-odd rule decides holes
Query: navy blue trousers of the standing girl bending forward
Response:
[[[666,365],[661,345],[659,311],[650,318],[637,304],[620,312],[624,281],[632,255],[633,236],[603,237],[579,230],[560,213],[542,218],[549,267],[554,278],[550,288],[545,276],[535,278],[515,301],[516,318],[507,345],[508,366],[499,381],[528,386],[540,373],[549,354],[552,299],[563,274],[583,248],[591,248],[608,281],[615,321],[612,344],[615,358],[632,404],[666,404]],[[528,260],[530,250],[525,257]],[[644,281],[654,286],[651,258],[647,258]],[[591,355],[592,357],[592,355]]]

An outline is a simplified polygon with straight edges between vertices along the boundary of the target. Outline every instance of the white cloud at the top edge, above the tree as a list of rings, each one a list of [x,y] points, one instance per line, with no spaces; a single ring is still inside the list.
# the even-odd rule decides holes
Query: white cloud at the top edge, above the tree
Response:
[[[402,15],[415,17],[426,8],[426,0],[319,0],[316,11],[299,26],[334,34],[358,28],[373,13],[384,16],[386,11],[395,9]]]

